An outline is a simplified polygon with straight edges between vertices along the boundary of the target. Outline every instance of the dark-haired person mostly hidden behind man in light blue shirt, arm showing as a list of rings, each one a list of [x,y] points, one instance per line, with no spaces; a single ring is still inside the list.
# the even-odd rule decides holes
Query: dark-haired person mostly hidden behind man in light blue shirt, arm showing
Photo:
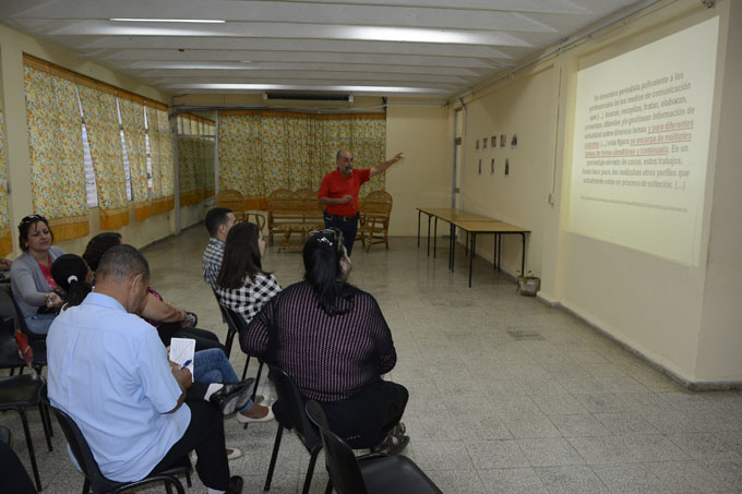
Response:
[[[95,272],[103,254],[108,249],[120,244],[120,233],[98,233],[87,242],[83,258],[89,268]],[[189,327],[193,322],[184,310],[165,302],[163,297],[152,287],[147,287],[147,297],[144,299],[142,308],[140,308],[139,315],[157,328],[159,338],[166,347],[170,345],[170,338],[189,338],[195,340],[196,350],[205,350],[207,348],[224,350],[224,346],[214,333]]]

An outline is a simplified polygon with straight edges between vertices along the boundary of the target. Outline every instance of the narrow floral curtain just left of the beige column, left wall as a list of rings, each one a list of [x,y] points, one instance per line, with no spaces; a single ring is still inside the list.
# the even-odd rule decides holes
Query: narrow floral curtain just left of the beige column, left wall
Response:
[[[175,207],[172,131],[166,108],[147,106],[149,155],[152,160],[152,214]]]

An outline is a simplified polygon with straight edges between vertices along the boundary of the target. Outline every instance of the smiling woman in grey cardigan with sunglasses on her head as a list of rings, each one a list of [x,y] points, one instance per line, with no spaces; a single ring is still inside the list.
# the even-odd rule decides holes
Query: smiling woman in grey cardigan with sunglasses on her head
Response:
[[[19,225],[19,243],[23,254],[10,267],[13,298],[19,304],[28,330],[46,335],[57,317],[62,299],[51,277],[51,263],[64,254],[52,245],[55,234],[41,215],[26,216]]]

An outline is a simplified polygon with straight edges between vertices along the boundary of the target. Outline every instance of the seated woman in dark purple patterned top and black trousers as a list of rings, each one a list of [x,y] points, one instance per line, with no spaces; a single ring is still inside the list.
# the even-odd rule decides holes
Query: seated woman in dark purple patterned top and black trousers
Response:
[[[240,346],[319,401],[330,429],[350,447],[398,453],[409,442],[399,422],[408,393],[382,378],[397,356],[381,309],[347,282],[350,260],[339,230],[313,231],[303,261],[304,280],[265,304],[240,334]],[[280,413],[280,400],[276,406]]]

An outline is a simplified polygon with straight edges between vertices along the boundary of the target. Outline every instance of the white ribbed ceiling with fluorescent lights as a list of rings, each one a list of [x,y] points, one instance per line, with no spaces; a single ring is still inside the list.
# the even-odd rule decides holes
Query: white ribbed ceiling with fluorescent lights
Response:
[[[2,0],[0,22],[171,95],[450,98],[633,3]]]

